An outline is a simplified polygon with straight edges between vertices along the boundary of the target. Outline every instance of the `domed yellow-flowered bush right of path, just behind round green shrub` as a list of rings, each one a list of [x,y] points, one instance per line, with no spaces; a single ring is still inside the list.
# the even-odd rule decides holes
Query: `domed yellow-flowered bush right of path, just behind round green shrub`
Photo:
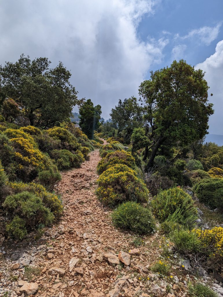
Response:
[[[98,179],[97,195],[105,204],[123,201],[146,202],[149,191],[136,172],[126,165],[117,164],[105,170]]]

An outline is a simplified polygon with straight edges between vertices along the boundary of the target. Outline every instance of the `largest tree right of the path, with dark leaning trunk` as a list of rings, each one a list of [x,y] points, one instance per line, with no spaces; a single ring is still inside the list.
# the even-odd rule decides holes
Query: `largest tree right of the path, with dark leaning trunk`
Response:
[[[151,72],[150,80],[139,86],[140,100],[153,141],[145,170],[153,166],[162,145],[186,146],[206,135],[208,118],[214,113],[208,103],[208,84],[201,69],[186,61]]]

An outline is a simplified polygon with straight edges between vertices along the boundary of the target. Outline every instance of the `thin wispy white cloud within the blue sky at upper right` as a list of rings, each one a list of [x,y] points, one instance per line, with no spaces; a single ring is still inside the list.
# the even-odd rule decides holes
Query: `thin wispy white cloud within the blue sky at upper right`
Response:
[[[211,42],[217,38],[221,26],[222,22],[218,23],[215,27],[204,26],[199,29],[193,29],[187,35],[182,37],[179,34],[176,34],[175,39],[195,39],[199,40],[199,42],[202,42],[205,45],[210,45]]]

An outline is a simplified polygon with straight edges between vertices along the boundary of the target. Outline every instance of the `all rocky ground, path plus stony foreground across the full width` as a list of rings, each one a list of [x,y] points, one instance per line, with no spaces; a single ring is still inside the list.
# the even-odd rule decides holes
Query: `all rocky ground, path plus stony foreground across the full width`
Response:
[[[0,296],[187,296],[196,278],[189,261],[171,253],[165,236],[138,238],[111,224],[110,209],[94,194],[99,160],[95,150],[81,168],[62,173],[55,187],[65,207],[58,225],[40,239],[5,241]],[[160,259],[171,267],[168,276],[150,269]],[[223,296],[217,280],[205,275],[200,281]]]

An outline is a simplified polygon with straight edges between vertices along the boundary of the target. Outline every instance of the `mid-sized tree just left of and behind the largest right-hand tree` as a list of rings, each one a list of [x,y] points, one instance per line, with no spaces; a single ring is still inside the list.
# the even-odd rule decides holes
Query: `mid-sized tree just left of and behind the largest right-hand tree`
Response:
[[[125,142],[130,142],[130,137],[134,128],[142,125],[142,108],[140,108],[137,99],[131,97],[129,99],[121,99],[118,106],[112,108],[110,116],[114,124],[118,126],[118,132],[124,130]]]

